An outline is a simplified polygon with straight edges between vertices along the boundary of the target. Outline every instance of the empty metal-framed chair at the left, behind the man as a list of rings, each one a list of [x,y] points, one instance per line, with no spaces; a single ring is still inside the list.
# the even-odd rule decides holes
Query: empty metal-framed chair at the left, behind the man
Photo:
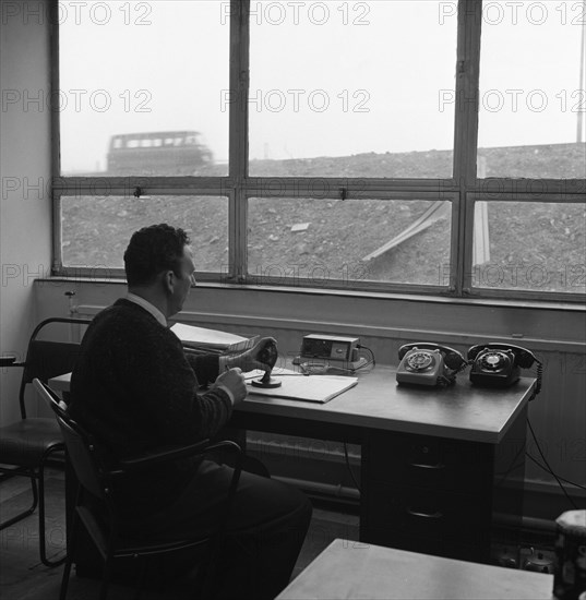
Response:
[[[72,325],[87,325],[89,320],[52,317],[39,323],[28,341],[24,362],[16,362],[14,357],[2,357],[1,367],[21,367],[23,374],[19,393],[21,420],[0,428],[0,481],[14,476],[31,479],[33,504],[17,515],[0,523],[4,529],[35,512],[38,505],[38,531],[40,560],[47,566],[57,566],[64,562],[47,559],[45,533],[45,467],[50,458],[63,449],[63,439],[55,419],[31,418],[26,413],[25,395],[28,384],[34,379],[48,379],[68,373],[73,369],[80,344],[38,339],[46,333],[45,327],[51,324],[64,329]],[[38,490],[37,490],[38,481]]]

